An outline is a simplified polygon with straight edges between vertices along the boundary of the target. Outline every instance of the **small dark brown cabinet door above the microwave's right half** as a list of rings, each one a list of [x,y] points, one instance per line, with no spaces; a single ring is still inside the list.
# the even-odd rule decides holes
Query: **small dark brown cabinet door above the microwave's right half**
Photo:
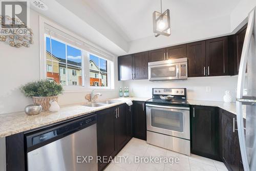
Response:
[[[186,44],[166,48],[166,60],[187,57]]]

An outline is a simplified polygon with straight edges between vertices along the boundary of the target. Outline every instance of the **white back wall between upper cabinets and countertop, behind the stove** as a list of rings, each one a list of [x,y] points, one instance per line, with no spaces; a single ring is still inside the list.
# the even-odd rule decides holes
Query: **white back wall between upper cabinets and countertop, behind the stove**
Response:
[[[152,97],[152,88],[186,88],[187,98],[193,100],[223,101],[226,90],[229,90],[233,101],[236,99],[238,76],[198,77],[178,81],[124,81],[123,86],[128,86],[130,96]],[[206,92],[206,87],[211,91]]]

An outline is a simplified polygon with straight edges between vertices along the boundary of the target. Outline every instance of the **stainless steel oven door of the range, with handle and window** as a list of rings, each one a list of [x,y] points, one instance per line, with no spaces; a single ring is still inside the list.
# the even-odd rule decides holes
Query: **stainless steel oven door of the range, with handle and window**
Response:
[[[146,104],[147,131],[190,140],[189,108]]]

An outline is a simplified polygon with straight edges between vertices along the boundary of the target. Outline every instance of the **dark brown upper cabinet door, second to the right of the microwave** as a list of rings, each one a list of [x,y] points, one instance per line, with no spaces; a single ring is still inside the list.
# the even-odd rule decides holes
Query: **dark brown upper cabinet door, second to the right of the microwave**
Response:
[[[206,40],[207,76],[228,75],[228,38]]]

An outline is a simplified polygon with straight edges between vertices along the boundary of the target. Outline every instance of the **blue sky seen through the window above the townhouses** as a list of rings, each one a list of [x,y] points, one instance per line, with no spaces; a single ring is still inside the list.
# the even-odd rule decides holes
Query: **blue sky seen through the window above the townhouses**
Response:
[[[46,50],[48,52],[51,52],[49,37],[46,37]],[[67,46],[67,53],[68,53],[68,60],[72,60],[75,62],[82,62],[80,50]],[[62,44],[57,40],[52,39],[52,54],[56,57],[66,59],[66,45]],[[106,70],[106,60],[98,58],[91,54],[90,54],[90,60],[93,60],[97,66],[100,65],[101,69]]]

